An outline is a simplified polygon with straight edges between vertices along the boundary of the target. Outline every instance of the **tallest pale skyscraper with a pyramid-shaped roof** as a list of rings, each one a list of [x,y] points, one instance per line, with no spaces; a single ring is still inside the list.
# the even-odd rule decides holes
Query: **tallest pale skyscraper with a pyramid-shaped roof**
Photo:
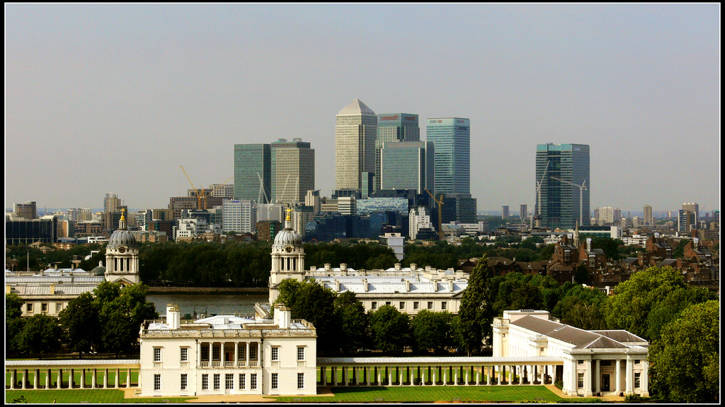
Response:
[[[375,172],[378,116],[355,99],[336,116],[335,189],[360,190],[363,172]]]

